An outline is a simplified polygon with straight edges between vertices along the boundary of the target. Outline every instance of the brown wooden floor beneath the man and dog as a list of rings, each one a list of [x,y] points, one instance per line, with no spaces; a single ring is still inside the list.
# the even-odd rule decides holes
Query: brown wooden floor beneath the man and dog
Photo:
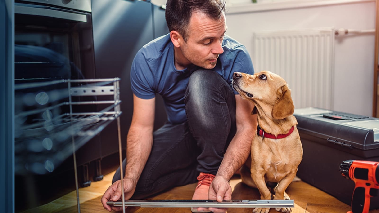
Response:
[[[80,199],[80,212],[83,213],[104,213],[108,212],[102,207],[100,198],[108,186],[111,185],[111,180],[114,172],[105,175],[104,179],[99,182],[92,182],[91,186],[79,189]],[[238,176],[230,181],[232,186],[232,199],[259,199],[259,192],[257,189],[249,188],[241,183],[241,179]],[[191,199],[193,191],[196,187],[196,183],[186,186],[180,186],[173,188],[167,192],[161,193],[148,199]],[[337,200],[336,198],[324,193],[317,188],[302,182],[291,183],[287,191],[288,195],[295,202],[295,207],[292,208],[292,213],[314,213],[314,212],[343,212],[350,210],[349,205]],[[229,208],[228,213],[251,213],[253,208]],[[76,191],[60,197],[49,204],[37,207],[25,212],[60,212],[71,213],[78,212]],[[140,207],[128,207],[126,212],[132,213],[166,213],[166,212],[182,212],[190,213],[189,208],[140,208]],[[274,208],[271,208],[270,213],[277,213]],[[371,210],[370,213],[379,213],[379,210]]]

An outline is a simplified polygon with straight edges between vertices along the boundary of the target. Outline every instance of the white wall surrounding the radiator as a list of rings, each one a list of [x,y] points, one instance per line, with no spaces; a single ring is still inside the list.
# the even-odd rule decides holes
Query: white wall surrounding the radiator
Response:
[[[283,2],[281,5],[276,4],[280,8],[284,5],[286,9],[275,8],[275,3],[231,5],[226,8],[227,34],[244,44],[252,53],[252,34],[258,31],[324,27],[375,29],[373,0],[318,0],[313,1],[313,4],[308,0],[307,3],[309,2],[311,4],[300,7],[288,6],[291,5],[289,2],[287,6]],[[336,36],[334,91],[330,91],[334,96],[332,110],[372,116],[374,40],[374,33]]]

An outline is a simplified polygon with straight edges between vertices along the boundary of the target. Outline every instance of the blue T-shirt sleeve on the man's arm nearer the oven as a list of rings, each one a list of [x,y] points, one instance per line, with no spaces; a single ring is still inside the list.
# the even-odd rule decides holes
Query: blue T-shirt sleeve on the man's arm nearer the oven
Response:
[[[130,86],[141,99],[155,97],[154,76],[142,49],[136,54],[130,69]]]

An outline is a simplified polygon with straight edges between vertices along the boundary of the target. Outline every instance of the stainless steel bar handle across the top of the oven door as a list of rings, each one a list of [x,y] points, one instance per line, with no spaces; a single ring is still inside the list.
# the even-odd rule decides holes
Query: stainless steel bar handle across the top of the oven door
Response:
[[[46,8],[36,8],[36,7],[15,5],[14,13],[34,15],[34,16],[47,16],[47,17],[54,17],[54,18],[59,18],[59,19],[74,20],[78,22],[87,22],[86,15],[77,14],[77,13],[69,13],[69,12],[58,11],[58,10],[53,10],[53,9],[46,9]]]

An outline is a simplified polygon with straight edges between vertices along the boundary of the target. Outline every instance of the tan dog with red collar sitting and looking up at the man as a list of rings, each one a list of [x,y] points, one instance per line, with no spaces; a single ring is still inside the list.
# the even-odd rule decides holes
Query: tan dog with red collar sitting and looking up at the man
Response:
[[[251,164],[248,159],[241,168],[242,182],[258,188],[262,200],[290,199],[285,190],[296,176],[303,149],[286,81],[269,71],[254,75],[235,72],[232,86],[244,99],[255,104],[253,114],[256,112],[258,119],[257,135],[251,144]],[[268,188],[270,185],[273,185],[272,191]],[[289,213],[291,208],[276,210]],[[253,210],[268,211],[269,208]]]

